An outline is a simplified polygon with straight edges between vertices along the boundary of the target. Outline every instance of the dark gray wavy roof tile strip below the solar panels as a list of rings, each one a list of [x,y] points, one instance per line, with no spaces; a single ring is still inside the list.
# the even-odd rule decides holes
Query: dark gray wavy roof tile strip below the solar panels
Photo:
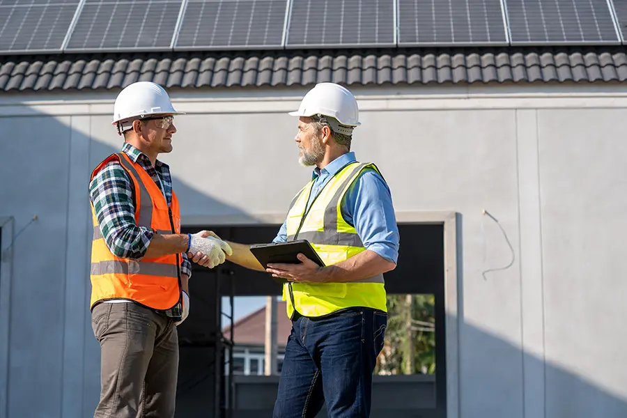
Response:
[[[137,81],[189,88],[627,80],[627,53],[609,47],[65,54],[62,59],[1,57],[0,91],[113,90]]]

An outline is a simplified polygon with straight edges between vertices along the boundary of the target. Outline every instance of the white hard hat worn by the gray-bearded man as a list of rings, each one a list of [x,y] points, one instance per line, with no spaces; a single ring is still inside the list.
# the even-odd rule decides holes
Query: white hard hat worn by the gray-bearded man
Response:
[[[359,107],[353,93],[335,83],[320,83],[307,92],[297,111],[291,116],[316,114],[336,118],[341,125],[359,126]]]

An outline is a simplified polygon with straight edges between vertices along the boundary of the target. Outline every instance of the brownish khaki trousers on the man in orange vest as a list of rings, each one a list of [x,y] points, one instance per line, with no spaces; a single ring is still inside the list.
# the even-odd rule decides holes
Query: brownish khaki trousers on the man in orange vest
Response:
[[[100,402],[94,418],[173,418],[178,334],[173,320],[132,302],[91,313],[100,343]]]

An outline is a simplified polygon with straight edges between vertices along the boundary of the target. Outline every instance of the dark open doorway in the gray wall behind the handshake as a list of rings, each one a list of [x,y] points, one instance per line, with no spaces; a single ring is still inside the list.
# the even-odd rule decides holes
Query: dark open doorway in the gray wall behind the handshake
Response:
[[[201,229],[215,231],[226,240],[253,244],[270,242],[279,225],[187,226],[183,232],[195,233]],[[390,335],[394,339],[388,350],[392,361],[378,366],[387,370],[381,370],[373,378],[371,416],[444,418],[447,403],[444,227],[399,224],[399,229],[398,265],[385,274],[385,281],[390,314],[394,310],[395,314],[408,315],[397,318],[396,322],[401,320],[403,329],[411,329],[408,334],[411,338],[398,334],[394,339]],[[241,358],[235,359],[233,373],[231,344],[238,341],[238,327],[230,327],[233,334],[226,335],[224,318],[232,325],[229,316],[233,313],[233,300],[238,297],[281,295],[281,285],[268,274],[229,262],[211,270],[197,265],[192,269],[190,315],[178,329],[181,355],[176,416],[271,417],[278,376],[251,376],[251,373],[245,376],[243,360],[238,362]],[[285,311],[279,309],[278,315],[285,316]],[[426,318],[431,318],[431,322]],[[398,353],[402,350],[412,355],[401,358]],[[424,351],[415,354],[416,350]],[[396,359],[392,358],[395,355]],[[246,364],[251,364],[249,359]],[[246,370],[250,372],[251,367]],[[255,365],[254,371],[257,370],[259,366]],[[324,411],[320,412],[319,417],[325,416]]]

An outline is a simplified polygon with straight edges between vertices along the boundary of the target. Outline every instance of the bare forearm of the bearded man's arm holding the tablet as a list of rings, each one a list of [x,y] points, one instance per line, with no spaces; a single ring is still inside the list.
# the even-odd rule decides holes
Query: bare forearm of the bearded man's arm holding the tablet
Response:
[[[396,268],[396,263],[387,261],[374,251],[366,249],[348,260],[323,268],[327,274],[325,282],[357,281],[389,272]]]

